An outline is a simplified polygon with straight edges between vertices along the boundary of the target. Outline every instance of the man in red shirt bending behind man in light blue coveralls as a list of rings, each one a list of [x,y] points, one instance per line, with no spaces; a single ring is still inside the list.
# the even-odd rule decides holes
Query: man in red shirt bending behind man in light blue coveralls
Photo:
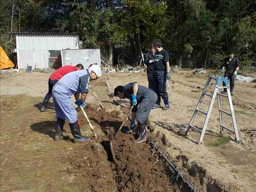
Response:
[[[84,70],[84,66],[82,64],[77,64],[76,66],[66,65],[64,67],[58,68],[56,71],[52,73],[48,80],[48,93],[46,93],[43,101],[43,105],[40,111],[46,111],[46,105],[52,97],[52,88],[53,86],[63,77],[64,75],[78,70]]]

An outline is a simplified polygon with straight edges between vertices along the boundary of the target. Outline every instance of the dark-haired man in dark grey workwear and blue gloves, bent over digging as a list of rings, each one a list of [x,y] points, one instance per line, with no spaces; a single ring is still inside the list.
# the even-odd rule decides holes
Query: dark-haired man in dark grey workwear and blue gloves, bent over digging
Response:
[[[146,141],[147,137],[145,122],[148,119],[152,107],[156,103],[156,93],[147,87],[138,85],[137,82],[133,82],[125,86],[117,86],[114,94],[120,99],[127,98],[131,101],[131,105],[134,107],[132,109],[132,121],[130,123],[130,129],[134,126],[136,118],[138,122],[139,138],[135,142],[142,143]]]

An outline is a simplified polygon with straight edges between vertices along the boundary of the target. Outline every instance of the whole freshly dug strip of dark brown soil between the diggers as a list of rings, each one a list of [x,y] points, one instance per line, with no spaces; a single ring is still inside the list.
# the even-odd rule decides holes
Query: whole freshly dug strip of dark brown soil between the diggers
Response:
[[[116,110],[85,110],[92,124],[98,124],[103,136],[93,139],[89,144],[82,144],[72,154],[61,158],[69,162],[65,172],[70,174],[68,182],[79,186],[81,191],[179,191],[172,185],[172,180],[164,166],[159,164],[158,154],[154,153],[148,143],[137,144],[132,134],[115,132],[121,125],[121,116]],[[82,132],[87,124],[81,119]],[[128,122],[122,131],[126,131]],[[94,126],[95,127],[95,126]],[[99,129],[97,129],[99,135]],[[105,136],[104,136],[105,135]],[[109,148],[104,143],[112,141],[115,161]]]

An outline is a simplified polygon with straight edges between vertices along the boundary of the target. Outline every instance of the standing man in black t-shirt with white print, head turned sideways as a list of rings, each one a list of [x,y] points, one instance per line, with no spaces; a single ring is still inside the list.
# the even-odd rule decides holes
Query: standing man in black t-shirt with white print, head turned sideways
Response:
[[[164,100],[164,110],[169,109],[169,98],[166,92],[166,79],[171,78],[169,66],[169,54],[162,48],[160,39],[153,41],[154,49],[156,50],[154,59],[154,91],[157,94],[156,104],[152,109],[160,108],[161,97]]]

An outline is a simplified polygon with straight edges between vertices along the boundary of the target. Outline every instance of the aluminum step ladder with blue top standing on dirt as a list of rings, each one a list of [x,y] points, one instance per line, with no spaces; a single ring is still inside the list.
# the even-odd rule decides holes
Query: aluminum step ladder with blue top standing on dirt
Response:
[[[210,84],[212,79],[214,79],[216,81],[216,86],[215,86],[215,90],[213,92],[213,95],[210,95],[210,94],[206,93],[206,91],[207,91],[207,88],[209,87],[209,84]],[[225,86],[221,86],[220,85],[222,82],[224,82]],[[228,95],[220,93],[220,89],[221,88],[226,88]],[[229,89],[228,77],[215,77],[215,76],[209,76],[208,77],[208,80],[207,80],[207,82],[205,84],[205,87],[204,87],[204,90],[202,92],[202,95],[201,95],[201,97],[200,97],[200,99],[199,99],[199,101],[197,103],[196,109],[195,109],[194,114],[193,114],[193,116],[192,116],[192,118],[190,120],[188,129],[185,132],[185,135],[189,135],[189,131],[191,129],[196,131],[196,132],[199,132],[199,133],[201,133],[201,135],[200,135],[200,139],[199,139],[199,141],[197,143],[198,144],[202,143],[202,141],[204,139],[204,133],[205,133],[205,130],[206,130],[206,127],[207,127],[207,124],[208,124],[208,121],[209,121],[209,118],[210,118],[210,115],[211,115],[211,112],[212,112],[212,106],[213,106],[213,103],[214,103],[216,95],[218,95],[218,107],[219,107],[219,116],[220,116],[220,134],[222,134],[224,129],[226,129],[226,130],[228,130],[228,131],[230,131],[232,133],[235,133],[235,135],[236,135],[235,141],[237,143],[239,143],[241,140],[239,139],[239,135],[238,135],[237,125],[236,125],[236,118],[235,118],[234,108],[233,108],[231,94],[230,94],[230,89]],[[204,96],[208,96],[208,97],[212,98],[207,113],[202,111],[202,110],[200,110],[200,105],[201,105],[201,103],[202,103],[202,101],[204,99]],[[223,109],[221,109],[220,97],[228,98],[228,104],[229,104],[229,108],[230,108],[230,113],[227,112],[227,111],[224,111]],[[204,120],[204,125],[203,125],[203,129],[202,130],[200,130],[200,129],[198,129],[195,126],[192,125],[194,120],[195,120],[196,114],[198,112],[202,113],[202,114],[204,114],[206,116],[205,120]],[[222,113],[232,117],[234,130],[229,129],[228,127],[223,125]]]

